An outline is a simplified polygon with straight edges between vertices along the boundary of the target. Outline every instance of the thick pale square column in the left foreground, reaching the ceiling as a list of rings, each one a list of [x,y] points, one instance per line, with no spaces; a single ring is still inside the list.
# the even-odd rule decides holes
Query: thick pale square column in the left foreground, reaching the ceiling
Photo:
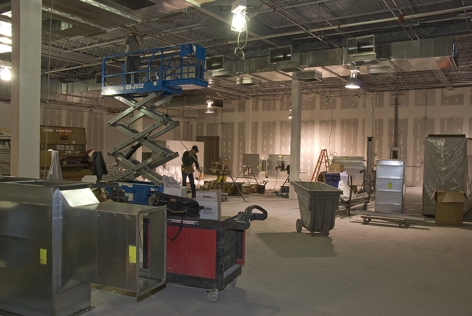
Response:
[[[12,7],[11,175],[39,177],[41,0]]]

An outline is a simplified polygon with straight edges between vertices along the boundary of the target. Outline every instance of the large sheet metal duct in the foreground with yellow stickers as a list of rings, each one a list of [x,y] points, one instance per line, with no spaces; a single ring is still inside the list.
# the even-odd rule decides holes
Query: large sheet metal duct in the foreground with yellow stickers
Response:
[[[92,281],[138,295],[165,282],[165,207],[98,203],[85,183],[0,177],[0,210],[2,315],[78,315],[91,308]],[[140,268],[138,216],[152,225],[151,271]]]

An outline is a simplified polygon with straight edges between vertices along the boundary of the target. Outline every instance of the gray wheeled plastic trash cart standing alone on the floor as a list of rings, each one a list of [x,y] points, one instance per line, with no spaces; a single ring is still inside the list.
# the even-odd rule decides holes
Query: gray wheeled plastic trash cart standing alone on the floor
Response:
[[[311,181],[291,182],[298,195],[300,219],[296,220],[296,231],[302,232],[302,226],[314,235],[326,233],[334,228],[336,211],[339,208],[339,196],[342,190],[328,184]]]

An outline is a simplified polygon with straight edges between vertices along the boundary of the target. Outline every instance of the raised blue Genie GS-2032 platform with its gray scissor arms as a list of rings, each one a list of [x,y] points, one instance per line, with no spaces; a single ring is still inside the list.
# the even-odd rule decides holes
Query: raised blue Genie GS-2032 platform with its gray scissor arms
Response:
[[[162,176],[154,171],[155,168],[178,157],[178,153],[169,150],[155,139],[177,127],[179,122],[156,109],[174,95],[182,94],[184,87],[199,89],[208,86],[208,82],[204,81],[206,49],[195,44],[185,44],[141,50],[139,53],[144,55],[141,61],[148,62],[146,70],[126,73],[122,58],[127,54],[103,58],[101,95],[114,97],[129,107],[108,122],[108,126],[129,137],[109,150],[108,155],[113,156],[118,165],[126,169],[114,176],[113,181],[131,181],[143,176],[158,185],[162,183]],[[105,63],[110,60],[122,63],[122,73],[105,73]],[[126,84],[125,75],[131,75],[133,78],[135,73],[145,73],[145,76],[141,76],[138,83],[131,79],[131,83]],[[143,99],[138,101],[135,98]],[[133,114],[133,117],[126,119],[130,114]],[[152,118],[156,123],[141,132],[137,131],[132,125],[144,116]],[[162,126],[164,127],[160,128]],[[134,159],[133,153],[141,146],[149,148],[155,154],[143,162]]]

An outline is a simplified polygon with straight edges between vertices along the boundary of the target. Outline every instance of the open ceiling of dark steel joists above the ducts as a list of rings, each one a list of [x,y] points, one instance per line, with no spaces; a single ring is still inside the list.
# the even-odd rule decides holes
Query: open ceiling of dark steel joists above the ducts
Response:
[[[52,77],[66,81],[93,78],[101,72],[103,57],[124,53],[123,40],[133,25],[144,34],[145,48],[193,42],[208,47],[210,56],[236,58],[238,33],[230,30],[232,0],[201,1],[200,7],[188,3],[192,1],[182,5],[185,1],[153,0],[160,3],[155,6],[147,1],[148,7],[132,10],[126,7],[131,0],[54,0],[51,11],[51,0],[44,0],[43,74],[49,68]],[[355,93],[472,86],[471,6],[472,0],[248,0],[244,53],[246,58],[264,56],[270,48],[285,45],[302,52],[344,47],[347,38],[370,34],[379,43],[454,36],[459,50],[457,69],[398,72],[381,78],[362,75],[365,88]],[[51,13],[53,19],[73,27],[50,32]],[[245,34],[242,37],[245,40]],[[0,58],[8,60],[8,54]],[[323,78],[303,83],[303,92],[352,93],[344,82],[341,77]],[[281,98],[290,89],[288,76],[287,81],[253,87],[228,82],[208,88],[232,100]]]

